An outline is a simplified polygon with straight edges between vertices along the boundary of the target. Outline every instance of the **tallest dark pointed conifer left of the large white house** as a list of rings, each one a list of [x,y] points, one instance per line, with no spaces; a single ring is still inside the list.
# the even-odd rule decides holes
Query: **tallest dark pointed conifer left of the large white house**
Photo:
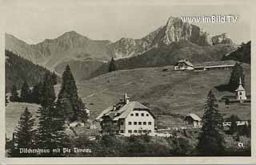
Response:
[[[78,114],[82,111],[78,102],[78,88],[71,73],[70,66],[62,74],[62,87],[58,93],[58,106],[64,109],[66,119],[78,120]]]

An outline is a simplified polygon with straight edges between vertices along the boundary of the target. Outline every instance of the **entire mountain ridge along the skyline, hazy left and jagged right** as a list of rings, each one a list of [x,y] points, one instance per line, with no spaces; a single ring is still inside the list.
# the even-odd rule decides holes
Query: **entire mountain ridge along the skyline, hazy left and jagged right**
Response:
[[[222,41],[229,41],[225,37],[222,35]],[[166,25],[160,26],[145,37],[138,39],[122,37],[115,42],[93,40],[73,30],[63,33],[57,38],[45,39],[38,44],[29,45],[6,33],[6,49],[53,70],[63,61],[110,61],[112,57],[117,59],[135,57],[155,47],[170,45],[176,41],[213,45],[212,38],[200,27],[182,22],[181,18],[170,17]],[[218,44],[220,37],[215,38],[214,44]],[[233,42],[230,40],[225,43],[232,44]]]

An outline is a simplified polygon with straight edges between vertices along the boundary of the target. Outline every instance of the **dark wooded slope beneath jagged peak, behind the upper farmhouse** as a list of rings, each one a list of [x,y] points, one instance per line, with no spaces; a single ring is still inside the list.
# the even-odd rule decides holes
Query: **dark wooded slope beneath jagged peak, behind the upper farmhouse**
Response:
[[[233,50],[233,45],[199,46],[188,41],[178,41],[170,45],[150,49],[137,57],[116,60],[115,64],[117,69],[123,70],[174,65],[182,58],[186,58],[193,63],[219,61],[222,60],[226,53],[230,53]],[[102,64],[94,73],[90,74],[90,77],[97,77],[98,75],[108,73],[108,66],[109,63]]]

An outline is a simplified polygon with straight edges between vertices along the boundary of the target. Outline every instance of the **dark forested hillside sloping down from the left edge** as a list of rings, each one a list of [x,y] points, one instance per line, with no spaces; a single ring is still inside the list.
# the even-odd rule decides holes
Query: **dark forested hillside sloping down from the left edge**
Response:
[[[9,92],[14,84],[18,89],[22,88],[24,81],[33,86],[46,72],[50,71],[6,50],[6,92]]]

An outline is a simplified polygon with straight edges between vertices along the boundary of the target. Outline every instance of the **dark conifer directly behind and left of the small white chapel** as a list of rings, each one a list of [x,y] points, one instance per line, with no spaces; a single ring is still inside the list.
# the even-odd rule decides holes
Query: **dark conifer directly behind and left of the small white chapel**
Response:
[[[245,87],[245,75],[243,73],[242,65],[239,63],[236,63],[230,75],[230,82],[229,82],[230,91],[234,91],[236,88],[238,88],[240,77],[242,80],[242,86]]]

